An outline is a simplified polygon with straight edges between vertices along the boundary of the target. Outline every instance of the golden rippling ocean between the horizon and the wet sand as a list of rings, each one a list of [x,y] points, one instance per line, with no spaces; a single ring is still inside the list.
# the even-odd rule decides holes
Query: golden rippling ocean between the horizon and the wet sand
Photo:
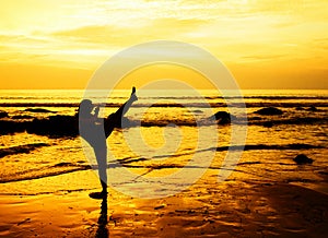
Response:
[[[200,91],[197,96],[188,91],[137,91],[139,100],[127,112],[129,127],[116,129],[107,140],[108,180],[115,187],[138,190],[138,194],[177,191],[190,185],[185,177],[164,178],[184,169],[189,176],[203,169],[219,176],[227,153],[242,151],[234,160],[233,170],[225,180],[291,182],[305,187],[321,188],[327,176],[328,158],[328,91],[243,91],[241,98],[230,93],[227,98],[215,91]],[[62,128],[43,130],[42,121],[56,116],[73,118],[83,91],[0,91],[0,193],[43,194],[66,191],[66,182],[54,185],[47,178],[94,169],[96,165],[90,146],[74,133],[56,133]],[[106,102],[101,115],[114,112],[130,95],[129,91],[115,91]],[[237,103],[236,103],[237,102]],[[274,107],[280,115],[260,115],[261,108]],[[237,120],[211,117],[218,111],[231,112]],[[40,127],[40,130],[31,130]],[[232,123],[246,129],[244,144],[232,144]],[[199,136],[202,131],[208,136]],[[212,135],[218,135],[213,138]],[[207,135],[207,134],[206,134]],[[202,144],[199,147],[199,144]],[[242,147],[238,147],[242,146]],[[211,153],[208,153],[211,152]],[[312,164],[297,165],[293,158],[300,154],[314,159]],[[206,168],[190,164],[197,155]],[[200,164],[201,164],[200,163]],[[134,179],[118,179],[124,172],[120,165],[136,175]],[[96,169],[94,169],[96,171]],[[114,174],[113,174],[114,172]],[[75,174],[75,175],[74,175]],[[96,172],[95,172],[96,175]],[[115,176],[112,176],[115,175]],[[136,189],[137,177],[152,180],[160,178],[153,190]],[[195,176],[196,182],[200,176]],[[220,176],[219,176],[220,177]],[[32,181],[45,179],[45,186],[28,186]],[[58,181],[58,180],[56,180]],[[109,181],[109,183],[110,183]],[[153,181],[153,180],[152,180]],[[203,181],[206,182],[206,181]],[[72,188],[73,181],[70,181]],[[144,180],[142,181],[144,183]],[[134,187],[134,188],[133,188]],[[84,188],[94,185],[85,181]],[[324,188],[327,192],[327,187]],[[168,194],[168,193],[163,193]]]

